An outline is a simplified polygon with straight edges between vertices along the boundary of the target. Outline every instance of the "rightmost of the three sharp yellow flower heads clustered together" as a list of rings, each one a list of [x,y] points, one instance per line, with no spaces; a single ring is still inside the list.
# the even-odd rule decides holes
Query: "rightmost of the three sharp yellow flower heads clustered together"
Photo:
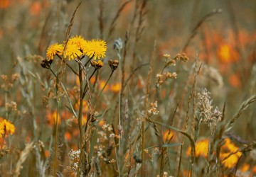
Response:
[[[100,59],[106,57],[107,50],[106,42],[104,40],[90,40],[87,42],[86,55],[90,58]]]

